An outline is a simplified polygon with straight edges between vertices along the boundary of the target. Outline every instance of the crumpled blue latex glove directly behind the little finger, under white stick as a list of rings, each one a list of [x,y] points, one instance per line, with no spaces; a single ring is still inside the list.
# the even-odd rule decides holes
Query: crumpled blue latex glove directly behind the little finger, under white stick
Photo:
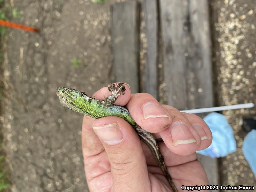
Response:
[[[212,144],[204,150],[196,151],[196,153],[214,158],[225,157],[236,151],[233,129],[224,115],[212,112],[204,117],[204,121],[212,131]]]

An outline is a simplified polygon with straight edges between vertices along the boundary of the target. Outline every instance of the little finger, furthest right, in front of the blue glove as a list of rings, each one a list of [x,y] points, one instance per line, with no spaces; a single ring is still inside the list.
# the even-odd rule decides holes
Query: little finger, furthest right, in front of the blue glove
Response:
[[[201,138],[200,147],[197,150],[203,150],[209,147],[212,143],[212,132],[209,126],[204,122],[202,118],[195,114],[182,113],[188,121],[192,124],[196,132]]]

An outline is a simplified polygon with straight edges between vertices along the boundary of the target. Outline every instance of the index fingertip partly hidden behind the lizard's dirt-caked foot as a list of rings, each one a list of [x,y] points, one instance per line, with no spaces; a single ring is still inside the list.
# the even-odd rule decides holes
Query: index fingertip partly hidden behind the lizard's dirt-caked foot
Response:
[[[117,83],[115,83],[115,85],[116,84]],[[115,102],[115,105],[124,106],[130,100],[131,89],[130,89],[128,84],[126,84],[126,83],[122,83],[122,84],[125,86],[125,94],[124,95],[120,95],[117,98],[117,100]],[[111,92],[108,90],[108,87],[102,87],[100,90],[95,92],[93,94],[93,96],[95,96],[95,98],[98,99],[98,100],[105,100],[110,94],[111,94]]]

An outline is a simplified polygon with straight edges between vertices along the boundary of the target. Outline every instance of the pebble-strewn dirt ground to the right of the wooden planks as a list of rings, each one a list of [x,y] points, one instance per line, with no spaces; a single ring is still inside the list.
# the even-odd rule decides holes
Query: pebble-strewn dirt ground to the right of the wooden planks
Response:
[[[255,1],[211,2],[213,67],[218,105],[256,103]],[[246,132],[242,118],[255,118],[254,108],[223,111],[234,130],[237,151],[220,159],[220,183],[256,188],[256,180],[242,152]],[[241,190],[223,190],[241,191]]]

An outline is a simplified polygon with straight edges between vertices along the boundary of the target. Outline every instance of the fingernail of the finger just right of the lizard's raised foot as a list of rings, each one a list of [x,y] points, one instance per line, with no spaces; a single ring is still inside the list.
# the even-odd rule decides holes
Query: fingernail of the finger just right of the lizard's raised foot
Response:
[[[142,112],[144,119],[167,117],[170,120],[170,117],[166,114],[164,109],[154,102],[145,103],[142,106]]]

